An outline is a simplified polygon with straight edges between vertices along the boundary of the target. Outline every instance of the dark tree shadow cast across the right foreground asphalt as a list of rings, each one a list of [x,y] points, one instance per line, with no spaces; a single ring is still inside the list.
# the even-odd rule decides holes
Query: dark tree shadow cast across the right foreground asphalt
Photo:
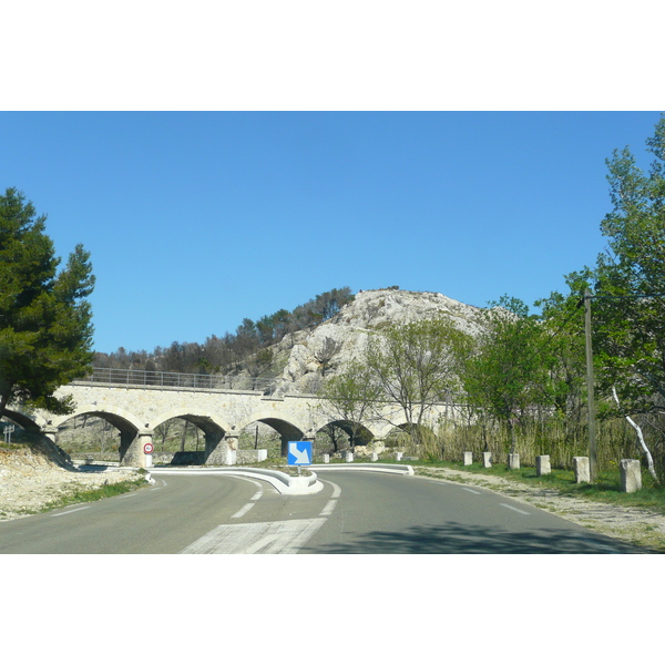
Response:
[[[628,544],[600,534],[541,529],[509,532],[447,522],[406,531],[371,531],[347,543],[300,548],[301,554],[638,554]]]

